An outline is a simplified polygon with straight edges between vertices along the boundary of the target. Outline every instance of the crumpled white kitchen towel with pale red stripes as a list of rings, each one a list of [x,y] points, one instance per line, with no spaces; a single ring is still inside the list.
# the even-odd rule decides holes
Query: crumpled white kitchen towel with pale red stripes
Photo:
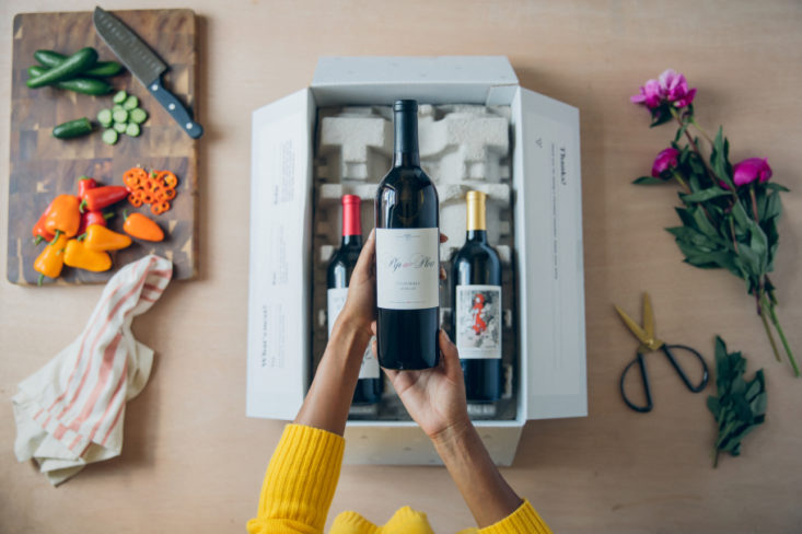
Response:
[[[123,267],[103,290],[78,338],[23,380],[13,396],[14,452],[32,457],[54,486],[123,450],[126,402],[142,391],[153,350],[133,339],[131,321],[159,300],[173,264],[150,255]]]

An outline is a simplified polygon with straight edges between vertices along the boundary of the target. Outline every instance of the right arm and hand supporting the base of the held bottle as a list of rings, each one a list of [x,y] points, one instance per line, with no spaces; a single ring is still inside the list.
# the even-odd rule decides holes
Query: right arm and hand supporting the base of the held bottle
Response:
[[[432,440],[480,532],[550,532],[490,458],[467,414],[456,347],[444,330],[439,343],[442,358],[433,369],[385,369],[404,406]]]

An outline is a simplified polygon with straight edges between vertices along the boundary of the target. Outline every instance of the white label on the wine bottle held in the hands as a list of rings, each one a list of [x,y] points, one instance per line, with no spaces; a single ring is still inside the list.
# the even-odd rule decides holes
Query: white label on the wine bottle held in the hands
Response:
[[[385,310],[440,305],[440,231],[376,229],[376,304]]]

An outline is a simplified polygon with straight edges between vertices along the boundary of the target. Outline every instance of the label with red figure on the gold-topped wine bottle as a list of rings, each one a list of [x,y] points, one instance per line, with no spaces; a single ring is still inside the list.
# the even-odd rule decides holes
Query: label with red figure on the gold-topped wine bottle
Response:
[[[501,358],[501,286],[457,286],[454,311],[460,358]]]

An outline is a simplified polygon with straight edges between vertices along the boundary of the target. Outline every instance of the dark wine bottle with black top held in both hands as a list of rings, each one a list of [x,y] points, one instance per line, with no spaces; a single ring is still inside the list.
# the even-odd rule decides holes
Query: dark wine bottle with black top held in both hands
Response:
[[[440,361],[438,191],[420,169],[418,103],[396,101],[393,112],[393,167],[375,199],[379,362],[427,369]]]

